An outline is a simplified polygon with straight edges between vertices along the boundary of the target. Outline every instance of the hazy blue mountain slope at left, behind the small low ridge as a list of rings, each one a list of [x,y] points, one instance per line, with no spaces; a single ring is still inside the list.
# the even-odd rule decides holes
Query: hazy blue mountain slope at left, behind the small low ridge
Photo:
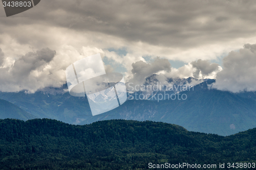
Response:
[[[65,87],[35,93],[0,92],[0,99],[7,100],[38,118],[57,119],[78,124],[84,116],[91,116],[87,98],[71,96]]]

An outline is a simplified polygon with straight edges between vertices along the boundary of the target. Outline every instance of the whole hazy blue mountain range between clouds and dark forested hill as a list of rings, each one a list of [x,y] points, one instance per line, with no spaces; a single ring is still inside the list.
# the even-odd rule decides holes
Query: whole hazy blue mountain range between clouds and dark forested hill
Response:
[[[173,80],[174,81],[174,80]],[[186,100],[127,100],[120,107],[92,116],[87,98],[68,92],[37,91],[34,94],[0,93],[0,98],[14,103],[39,117],[61,120],[69,124],[91,124],[98,120],[154,120],[183,126],[189,131],[230,135],[256,127],[256,95],[254,92],[231,93],[209,89],[215,80],[205,80],[186,94]],[[66,89],[65,86],[62,89]],[[66,90],[67,91],[67,90]],[[162,91],[157,92],[162,93]]]

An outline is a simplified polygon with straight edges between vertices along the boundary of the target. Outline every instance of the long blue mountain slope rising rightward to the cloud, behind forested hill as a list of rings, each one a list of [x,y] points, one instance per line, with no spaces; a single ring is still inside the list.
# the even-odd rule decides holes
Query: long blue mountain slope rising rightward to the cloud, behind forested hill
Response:
[[[245,92],[231,93],[208,89],[214,80],[180,92],[186,100],[126,101],[120,107],[84,123],[105,119],[154,120],[183,126],[189,131],[230,135],[256,127],[256,101]]]

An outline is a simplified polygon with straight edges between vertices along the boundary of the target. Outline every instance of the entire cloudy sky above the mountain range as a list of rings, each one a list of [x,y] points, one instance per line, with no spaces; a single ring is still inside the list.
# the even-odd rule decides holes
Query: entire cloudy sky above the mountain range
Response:
[[[0,7],[0,91],[60,87],[75,61],[100,53],[106,72],[216,79],[256,91],[256,2],[52,0],[6,17]]]

